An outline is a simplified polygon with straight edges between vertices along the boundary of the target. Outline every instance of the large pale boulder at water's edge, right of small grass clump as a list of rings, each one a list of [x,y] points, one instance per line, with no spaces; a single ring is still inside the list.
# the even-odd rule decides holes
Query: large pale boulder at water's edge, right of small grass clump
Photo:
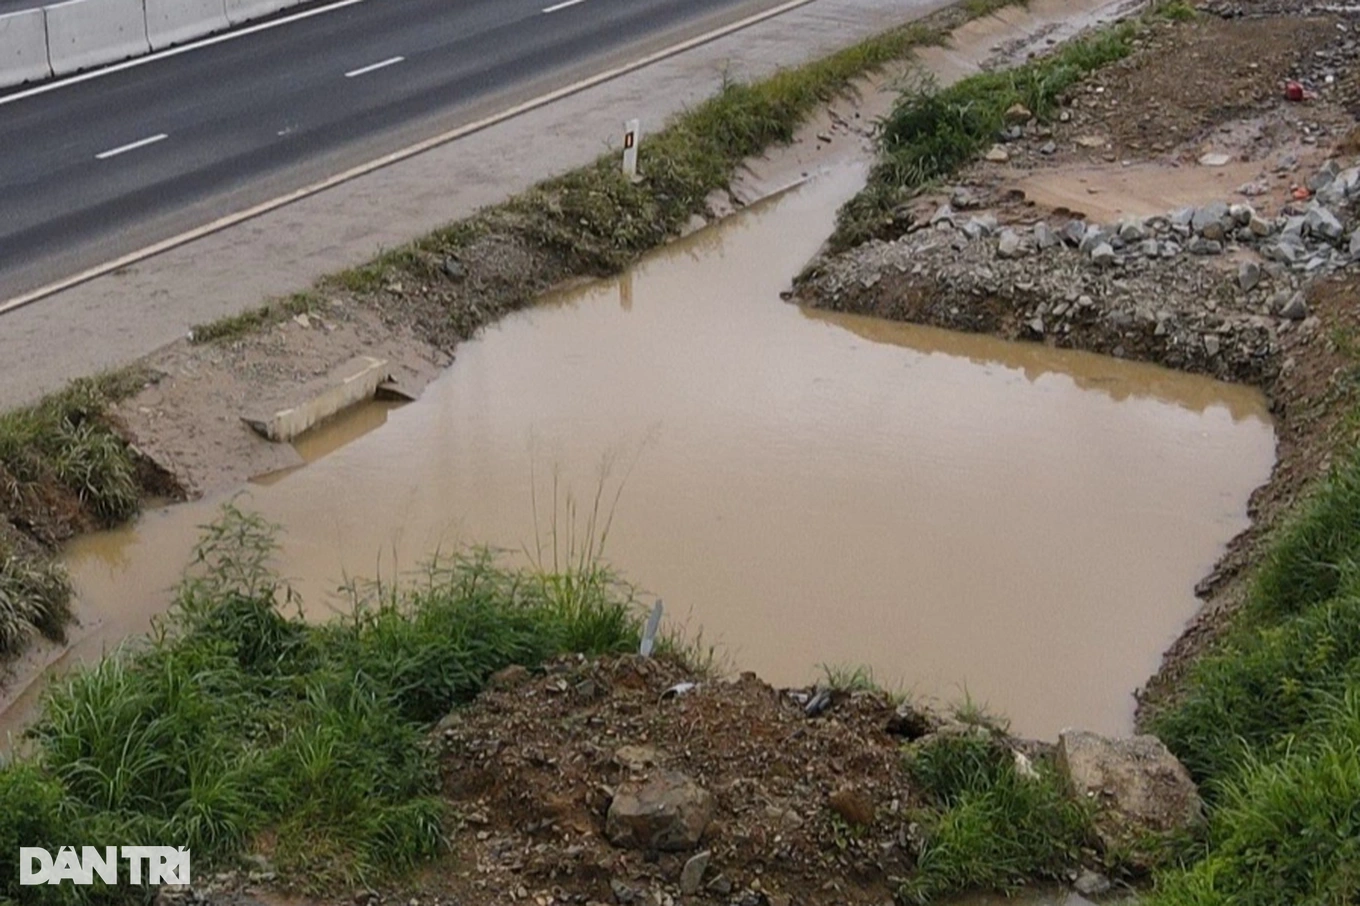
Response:
[[[1156,736],[1064,731],[1057,766],[1074,796],[1096,803],[1096,833],[1106,849],[1138,848],[1149,834],[1182,831],[1204,819],[1190,773]]]

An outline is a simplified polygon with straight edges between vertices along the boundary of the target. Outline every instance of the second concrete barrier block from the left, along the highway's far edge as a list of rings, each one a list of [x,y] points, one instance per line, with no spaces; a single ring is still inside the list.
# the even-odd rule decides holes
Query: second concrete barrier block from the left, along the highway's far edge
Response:
[[[69,0],[42,11],[53,75],[151,53],[141,0]]]

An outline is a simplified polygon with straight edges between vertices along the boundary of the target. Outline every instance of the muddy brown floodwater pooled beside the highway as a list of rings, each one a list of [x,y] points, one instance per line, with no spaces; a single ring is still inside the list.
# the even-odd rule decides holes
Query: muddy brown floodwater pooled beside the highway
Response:
[[[815,180],[507,318],[420,401],[359,412],[254,486],[309,612],[341,607],[345,574],[532,547],[530,475],[545,537],[551,476],[585,506],[612,458],[607,487],[627,482],[608,559],[732,665],[793,684],[864,664],[1021,733],[1126,732],[1269,475],[1265,403],[781,302],[861,178]],[[87,620],[67,661],[146,628],[218,502],[71,547]]]

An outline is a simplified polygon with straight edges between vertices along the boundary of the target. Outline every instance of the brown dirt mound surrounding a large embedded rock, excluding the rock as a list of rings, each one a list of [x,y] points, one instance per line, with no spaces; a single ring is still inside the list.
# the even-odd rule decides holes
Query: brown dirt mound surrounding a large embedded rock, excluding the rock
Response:
[[[465,819],[452,841],[465,868],[442,883],[466,902],[669,902],[688,862],[700,901],[889,901],[911,868],[902,735],[926,726],[877,692],[835,694],[809,717],[808,695],[634,657],[511,668],[435,731]],[[714,800],[696,849],[611,845],[615,792],[677,774]]]

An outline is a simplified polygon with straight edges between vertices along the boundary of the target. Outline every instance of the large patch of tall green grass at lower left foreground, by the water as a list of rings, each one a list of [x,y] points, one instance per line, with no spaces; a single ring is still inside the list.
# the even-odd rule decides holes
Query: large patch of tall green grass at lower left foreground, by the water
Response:
[[[302,887],[374,882],[445,846],[434,721],[510,664],[638,643],[602,571],[563,600],[555,577],[479,551],[307,624],[283,612],[272,539],[227,505],[158,631],[48,692],[35,755],[0,767],[0,845],[173,842],[200,875],[257,850]],[[0,901],[37,902],[14,871],[0,860]]]

